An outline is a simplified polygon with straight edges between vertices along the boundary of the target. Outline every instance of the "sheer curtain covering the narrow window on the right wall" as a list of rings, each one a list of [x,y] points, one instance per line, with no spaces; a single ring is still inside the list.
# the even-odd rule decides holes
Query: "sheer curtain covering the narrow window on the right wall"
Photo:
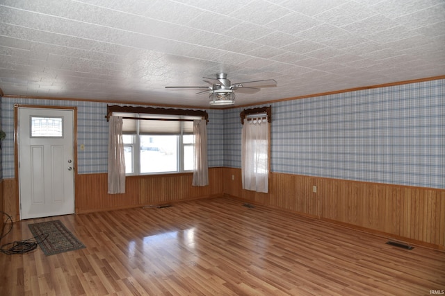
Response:
[[[241,142],[243,189],[268,193],[269,123],[244,119]]]

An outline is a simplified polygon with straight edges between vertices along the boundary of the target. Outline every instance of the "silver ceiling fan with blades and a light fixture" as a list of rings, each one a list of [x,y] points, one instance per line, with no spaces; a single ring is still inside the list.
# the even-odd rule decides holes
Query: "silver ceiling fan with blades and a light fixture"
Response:
[[[247,82],[230,82],[227,79],[227,73],[218,73],[216,78],[203,77],[204,82],[211,86],[203,87],[165,87],[168,89],[188,88],[188,89],[206,89],[196,94],[209,93],[210,105],[232,105],[235,103],[235,90],[244,94],[254,94],[259,92],[262,87],[276,87],[277,82],[273,79],[257,80]]]

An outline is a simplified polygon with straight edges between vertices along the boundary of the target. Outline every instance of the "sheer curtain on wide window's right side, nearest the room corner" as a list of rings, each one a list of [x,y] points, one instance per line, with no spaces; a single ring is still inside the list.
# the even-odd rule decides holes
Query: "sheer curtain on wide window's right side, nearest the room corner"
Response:
[[[207,121],[193,121],[195,148],[193,149],[193,186],[209,185],[209,167],[207,163]]]

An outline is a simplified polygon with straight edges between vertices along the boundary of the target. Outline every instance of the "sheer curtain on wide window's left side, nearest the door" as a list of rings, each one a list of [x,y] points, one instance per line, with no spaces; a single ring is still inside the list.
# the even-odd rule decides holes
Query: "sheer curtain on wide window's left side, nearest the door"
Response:
[[[108,128],[108,193],[125,193],[122,117],[110,116]]]

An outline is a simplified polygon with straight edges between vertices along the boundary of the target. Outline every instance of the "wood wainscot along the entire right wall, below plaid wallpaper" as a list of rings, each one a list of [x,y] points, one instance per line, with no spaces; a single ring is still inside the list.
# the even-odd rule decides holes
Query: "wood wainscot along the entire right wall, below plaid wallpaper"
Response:
[[[256,193],[242,189],[238,168],[223,179],[225,195],[445,250],[444,189],[270,173],[269,193]]]

